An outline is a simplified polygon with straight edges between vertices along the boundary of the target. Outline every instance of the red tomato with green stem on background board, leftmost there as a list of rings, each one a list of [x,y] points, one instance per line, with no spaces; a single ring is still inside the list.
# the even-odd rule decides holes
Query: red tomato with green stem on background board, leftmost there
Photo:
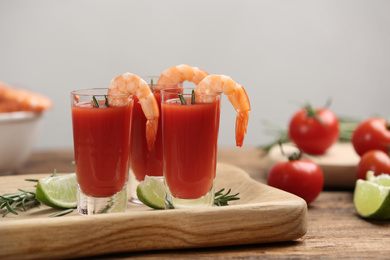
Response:
[[[319,155],[339,138],[339,120],[327,108],[300,109],[293,115],[289,125],[289,137],[303,152]]]

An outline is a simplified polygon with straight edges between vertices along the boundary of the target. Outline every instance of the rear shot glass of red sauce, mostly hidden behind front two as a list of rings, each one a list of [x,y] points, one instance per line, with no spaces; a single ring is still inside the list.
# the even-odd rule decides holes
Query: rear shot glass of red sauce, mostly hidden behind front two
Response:
[[[137,185],[145,179],[145,176],[163,176],[163,152],[162,152],[162,128],[161,128],[161,89],[181,87],[181,83],[157,84],[158,76],[142,77],[149,85],[160,110],[158,130],[153,150],[149,151],[146,136],[146,117],[134,97],[133,124],[131,127],[130,144],[130,180],[129,201],[141,203],[137,198]]]

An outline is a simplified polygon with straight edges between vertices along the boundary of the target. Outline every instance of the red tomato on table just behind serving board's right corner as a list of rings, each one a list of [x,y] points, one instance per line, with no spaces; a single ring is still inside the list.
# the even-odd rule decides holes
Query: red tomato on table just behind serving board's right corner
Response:
[[[290,156],[289,161],[278,162],[271,168],[267,183],[301,197],[309,205],[322,191],[324,175],[313,161]]]

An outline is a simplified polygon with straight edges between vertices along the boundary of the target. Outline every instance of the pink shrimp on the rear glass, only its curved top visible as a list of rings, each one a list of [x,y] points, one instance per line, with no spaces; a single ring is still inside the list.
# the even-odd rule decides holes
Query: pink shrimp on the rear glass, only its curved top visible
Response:
[[[157,84],[190,81],[198,85],[207,75],[209,75],[207,72],[198,67],[181,64],[166,69],[159,77]]]

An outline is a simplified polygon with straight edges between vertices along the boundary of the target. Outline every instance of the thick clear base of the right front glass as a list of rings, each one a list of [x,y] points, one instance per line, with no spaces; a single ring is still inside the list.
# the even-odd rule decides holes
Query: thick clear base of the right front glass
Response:
[[[187,209],[212,206],[214,206],[214,184],[205,196],[198,199],[176,198],[165,185],[165,209]]]

